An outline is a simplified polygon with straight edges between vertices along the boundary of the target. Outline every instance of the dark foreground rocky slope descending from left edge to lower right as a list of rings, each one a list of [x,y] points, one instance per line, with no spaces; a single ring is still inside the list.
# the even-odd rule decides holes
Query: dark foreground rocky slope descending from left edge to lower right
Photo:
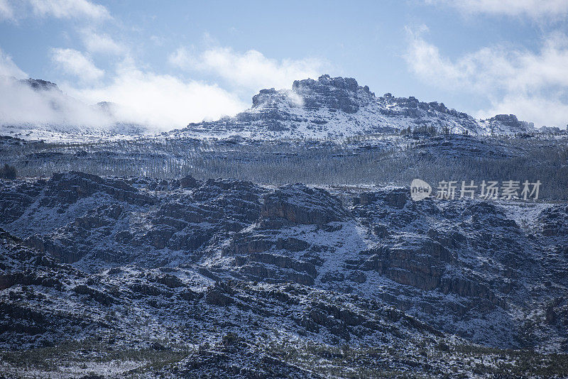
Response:
[[[404,346],[406,362],[421,367],[427,357],[411,358],[409,346],[435,348],[446,338],[415,317],[354,295],[290,283],[213,282],[189,268],[125,266],[84,273],[24,246],[5,231],[0,238],[0,347],[5,351],[57,344],[58,351],[65,348],[66,359],[77,354],[75,376],[92,373],[92,366],[79,363],[85,362],[88,341],[97,341],[95,348],[105,353],[160,357],[173,356],[178,341],[207,341],[197,349],[191,346],[189,355],[184,353],[175,365],[152,369],[158,376],[320,378],[275,354],[266,340],[284,334],[302,336],[310,344],[397,344]],[[156,338],[166,333],[175,347]],[[69,339],[70,346],[61,343]],[[315,356],[334,354],[317,351]],[[381,370],[384,361],[376,361],[372,356],[368,364]],[[16,368],[28,363],[11,362]],[[147,361],[139,366],[148,373]]]

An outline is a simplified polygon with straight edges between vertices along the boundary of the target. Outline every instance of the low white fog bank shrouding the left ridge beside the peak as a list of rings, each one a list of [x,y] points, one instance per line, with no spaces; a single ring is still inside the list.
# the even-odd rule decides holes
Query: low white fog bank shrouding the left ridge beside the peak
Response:
[[[138,79],[140,80],[140,79]],[[33,85],[36,82],[49,83],[53,85]],[[139,84],[139,83],[138,83]],[[6,94],[5,101],[0,105],[0,123],[3,126],[11,126],[11,128],[30,130],[40,129],[45,131],[57,132],[76,132],[89,131],[90,133],[114,131],[115,133],[131,133],[132,126],[136,126],[146,133],[155,133],[156,131],[170,130],[179,127],[187,122],[187,117],[195,116],[195,111],[183,112],[179,109],[187,109],[187,104],[193,104],[199,107],[204,99],[207,99],[207,88],[197,86],[193,91],[196,96],[203,90],[202,99],[195,101],[195,98],[182,97],[170,104],[169,97],[175,98],[175,92],[178,91],[176,82],[172,83],[160,82],[150,85],[163,86],[165,92],[169,92],[168,97],[160,97],[159,95],[153,100],[148,97],[136,97],[136,82],[131,84],[131,89],[119,95],[113,95],[112,89],[98,90],[101,98],[92,96],[96,101],[87,104],[69,94],[62,92],[57,84],[43,81],[41,79],[16,79],[14,77],[1,77],[0,87],[3,94]],[[124,92],[124,89],[119,91]],[[217,101],[224,94],[220,89],[210,89],[212,98]],[[9,94],[9,95],[8,95]],[[77,97],[84,97],[84,94],[72,93]],[[107,101],[120,97],[123,102],[115,103]],[[229,99],[229,95],[226,95]],[[100,99],[100,100],[99,100]],[[155,104],[156,101],[163,101],[162,104]],[[222,99],[221,99],[222,100]],[[229,102],[237,104],[236,100],[231,99]],[[150,104],[148,104],[150,103]],[[101,106],[101,104],[105,104]],[[164,105],[165,104],[165,105]],[[234,104],[229,109],[238,111]],[[232,108],[231,108],[232,106]],[[173,111],[175,107],[176,111]],[[224,106],[210,107],[211,109],[202,109],[197,114],[203,116],[217,115],[220,116],[219,110],[226,109]],[[185,116],[184,116],[185,115]]]

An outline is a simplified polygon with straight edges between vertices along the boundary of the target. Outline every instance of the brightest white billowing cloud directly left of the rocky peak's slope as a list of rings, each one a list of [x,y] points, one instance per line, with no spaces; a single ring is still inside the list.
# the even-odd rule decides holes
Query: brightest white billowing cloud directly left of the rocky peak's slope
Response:
[[[132,65],[117,70],[110,84],[67,88],[73,97],[87,103],[112,101],[116,118],[160,130],[186,126],[203,119],[219,119],[246,108],[238,97],[216,85],[184,82],[170,75],[143,72]]]

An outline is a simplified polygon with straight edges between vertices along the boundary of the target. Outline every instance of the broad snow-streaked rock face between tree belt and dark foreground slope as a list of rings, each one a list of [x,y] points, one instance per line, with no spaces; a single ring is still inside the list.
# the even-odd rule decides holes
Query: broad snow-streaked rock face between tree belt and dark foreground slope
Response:
[[[521,329],[542,335],[542,344],[567,339],[567,312],[556,300],[568,285],[565,204],[525,204],[535,214],[527,221],[515,216],[524,212],[519,204],[413,202],[408,189],[392,187],[330,194],[304,185],[267,189],[237,180],[77,172],[1,185],[0,227],[53,262],[82,270],[183,266],[217,281],[295,282],[381,299],[486,344],[524,346]],[[3,273],[0,287],[44,281],[60,286],[41,275]],[[131,284],[133,296],[153,297],[158,307],[180,282],[162,275]],[[114,301],[84,285],[74,293]],[[208,304],[229,304],[230,294],[209,293]],[[542,309],[523,313],[532,304]],[[298,322],[322,327],[320,311]],[[484,328],[472,334],[464,319]],[[346,336],[342,324],[323,325]]]

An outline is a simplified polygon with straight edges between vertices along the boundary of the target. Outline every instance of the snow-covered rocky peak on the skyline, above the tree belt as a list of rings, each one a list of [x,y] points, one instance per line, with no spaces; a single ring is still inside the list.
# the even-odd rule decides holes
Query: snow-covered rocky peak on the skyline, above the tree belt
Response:
[[[472,135],[534,132],[532,123],[514,115],[478,120],[443,103],[415,97],[376,97],[349,77],[322,75],[296,80],[292,89],[261,89],[250,109],[219,121],[190,123],[171,134],[254,138],[322,138],[398,133],[403,130]]]

